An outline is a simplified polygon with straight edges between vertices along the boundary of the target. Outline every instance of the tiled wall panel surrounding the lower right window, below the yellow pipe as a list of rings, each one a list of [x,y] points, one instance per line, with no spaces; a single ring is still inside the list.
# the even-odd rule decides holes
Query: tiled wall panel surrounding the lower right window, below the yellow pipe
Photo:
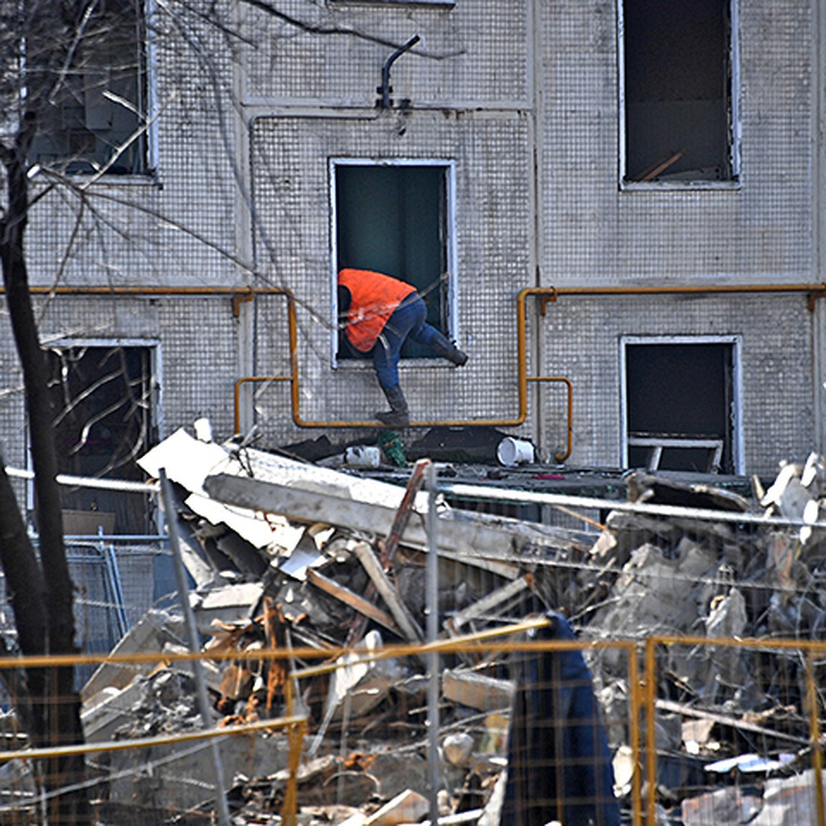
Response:
[[[744,466],[772,477],[781,459],[813,449],[811,314],[805,295],[561,297],[539,335],[548,371],[573,385],[574,466],[617,467],[621,458],[622,336],[738,336]],[[547,393],[548,449],[566,444],[561,389]]]

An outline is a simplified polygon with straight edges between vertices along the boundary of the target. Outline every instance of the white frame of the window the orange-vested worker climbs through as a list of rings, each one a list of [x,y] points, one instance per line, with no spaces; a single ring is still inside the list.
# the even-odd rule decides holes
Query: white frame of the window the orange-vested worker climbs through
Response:
[[[335,191],[335,169],[339,166],[436,166],[444,169],[444,189],[445,189],[445,238],[444,252],[445,261],[448,268],[448,330],[446,335],[450,339],[459,340],[458,330],[458,250],[456,244],[456,164],[453,160],[441,158],[330,158],[328,167],[329,188],[330,188],[330,295],[332,306],[330,307],[330,320],[332,323],[333,335],[330,336],[330,359],[334,368],[341,366],[338,359],[338,322],[339,322],[339,300],[336,289],[338,283],[338,269],[336,262],[338,256],[338,219],[335,211],[336,191]],[[427,359],[417,358],[416,363],[426,363]],[[348,367],[358,367],[358,361],[348,360]]]

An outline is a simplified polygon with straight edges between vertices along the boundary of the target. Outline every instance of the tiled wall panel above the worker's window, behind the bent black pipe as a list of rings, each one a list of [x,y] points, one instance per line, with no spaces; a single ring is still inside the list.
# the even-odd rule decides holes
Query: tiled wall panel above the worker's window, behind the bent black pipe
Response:
[[[244,12],[244,33],[259,43],[247,53],[249,102],[372,108],[380,97],[382,66],[415,35],[421,38],[415,50],[392,66],[396,101],[453,108],[529,100],[529,2],[470,0],[424,7],[287,0],[278,9],[326,33],[306,31],[257,8]]]

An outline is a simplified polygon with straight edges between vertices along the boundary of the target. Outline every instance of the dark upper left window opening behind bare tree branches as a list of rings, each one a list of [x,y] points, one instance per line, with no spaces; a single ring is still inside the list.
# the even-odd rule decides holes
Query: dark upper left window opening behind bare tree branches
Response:
[[[142,0],[98,0],[78,29],[69,64],[40,112],[31,159],[65,173],[145,173]],[[36,55],[36,44],[29,52]]]

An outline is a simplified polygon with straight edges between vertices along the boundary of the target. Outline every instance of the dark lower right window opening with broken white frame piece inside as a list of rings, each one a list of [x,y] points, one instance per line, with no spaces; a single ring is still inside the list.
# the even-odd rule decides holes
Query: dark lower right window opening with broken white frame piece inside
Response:
[[[626,467],[738,472],[733,342],[624,346]]]

